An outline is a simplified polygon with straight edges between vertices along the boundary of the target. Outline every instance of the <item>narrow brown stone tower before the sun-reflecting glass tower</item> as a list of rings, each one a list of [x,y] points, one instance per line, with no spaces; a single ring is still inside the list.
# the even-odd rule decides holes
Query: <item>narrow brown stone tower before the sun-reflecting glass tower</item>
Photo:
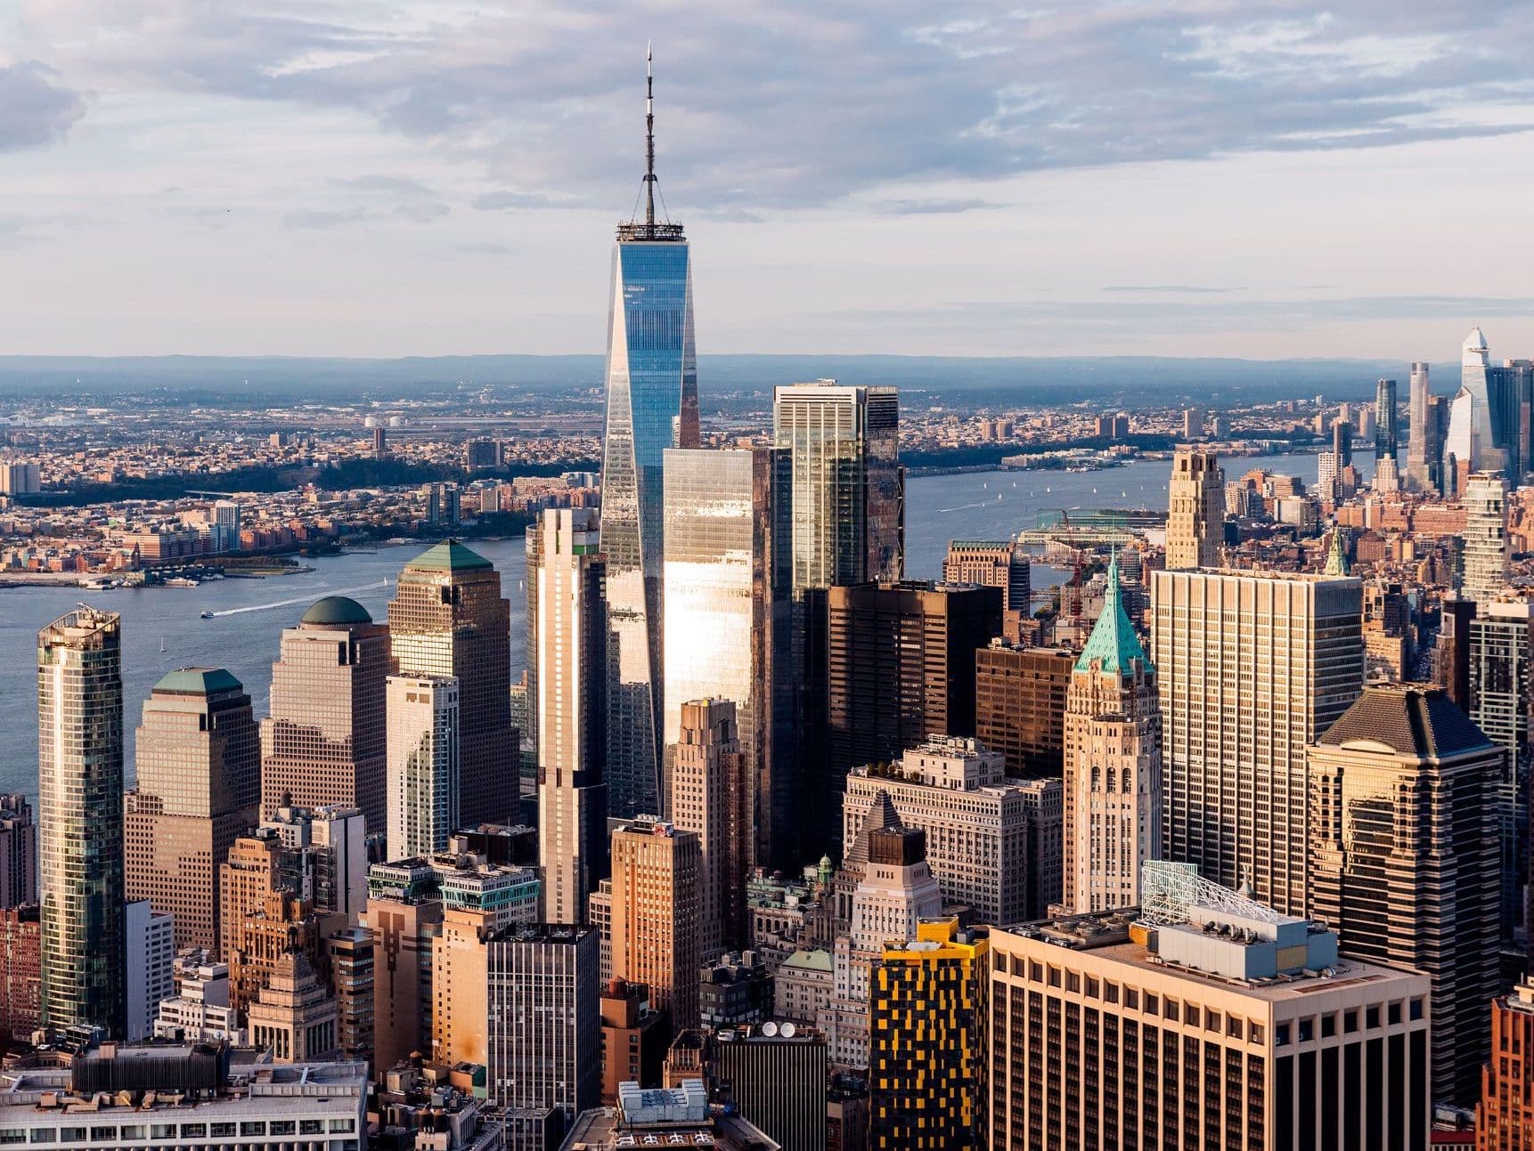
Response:
[[[703,880],[698,938],[704,961],[746,941],[755,780],[739,737],[738,714],[727,699],[683,703],[678,739],[669,748],[672,818],[678,829],[698,837]]]

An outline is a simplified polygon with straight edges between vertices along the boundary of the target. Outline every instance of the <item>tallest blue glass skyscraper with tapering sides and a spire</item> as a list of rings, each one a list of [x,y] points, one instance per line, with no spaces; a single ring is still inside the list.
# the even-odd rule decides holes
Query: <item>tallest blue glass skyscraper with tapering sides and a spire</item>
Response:
[[[692,253],[681,224],[655,219],[655,109],[644,100],[644,216],[618,225],[607,296],[607,420],[601,544],[615,674],[607,694],[607,805],[661,806],[661,535],[667,448],[698,446]]]

